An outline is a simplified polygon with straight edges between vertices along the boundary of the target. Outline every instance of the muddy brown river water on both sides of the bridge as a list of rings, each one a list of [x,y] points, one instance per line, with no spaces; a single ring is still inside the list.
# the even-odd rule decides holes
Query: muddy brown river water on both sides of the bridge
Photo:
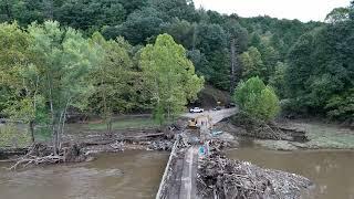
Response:
[[[354,199],[354,151],[229,150],[230,158],[303,175],[316,184],[304,198]],[[168,153],[125,151],[95,161],[9,172],[0,169],[0,199],[150,199]],[[0,167],[7,165],[0,164]]]

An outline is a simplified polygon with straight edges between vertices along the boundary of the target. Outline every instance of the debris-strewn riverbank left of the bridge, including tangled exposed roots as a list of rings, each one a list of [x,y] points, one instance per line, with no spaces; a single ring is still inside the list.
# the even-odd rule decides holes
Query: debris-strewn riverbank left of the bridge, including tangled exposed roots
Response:
[[[148,128],[115,130],[111,134],[76,134],[62,138],[58,155],[53,155],[50,143],[37,143],[28,148],[0,149],[1,161],[13,161],[10,170],[34,165],[91,161],[97,155],[125,150],[170,150],[174,129]]]

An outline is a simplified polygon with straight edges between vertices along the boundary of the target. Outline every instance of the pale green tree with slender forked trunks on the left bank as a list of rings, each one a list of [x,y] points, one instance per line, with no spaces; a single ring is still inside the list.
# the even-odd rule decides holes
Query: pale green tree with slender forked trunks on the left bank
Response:
[[[69,107],[84,108],[92,92],[88,72],[97,65],[98,53],[74,29],[61,29],[59,22],[45,21],[28,29],[33,38],[32,51],[38,56],[41,94],[49,105],[54,154],[64,133]]]

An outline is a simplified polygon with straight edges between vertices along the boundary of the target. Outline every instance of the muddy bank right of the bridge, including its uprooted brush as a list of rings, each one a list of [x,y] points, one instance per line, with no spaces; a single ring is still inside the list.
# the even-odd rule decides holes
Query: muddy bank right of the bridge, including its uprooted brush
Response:
[[[319,121],[279,119],[272,124],[254,124],[236,116],[216,125],[248,145],[275,150],[354,149],[354,130]]]

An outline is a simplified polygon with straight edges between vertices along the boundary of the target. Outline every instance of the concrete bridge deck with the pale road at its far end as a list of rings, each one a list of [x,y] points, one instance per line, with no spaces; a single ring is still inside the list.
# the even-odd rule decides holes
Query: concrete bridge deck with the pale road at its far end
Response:
[[[194,118],[199,115],[209,115],[211,125],[236,114],[237,108],[205,112],[200,114],[186,114],[185,117]],[[210,129],[202,127],[199,135],[210,134]],[[156,199],[197,199],[197,170],[199,159],[199,144],[187,144],[195,139],[197,134],[183,133],[178,135],[170,153],[165,174],[163,176]],[[200,137],[198,137],[200,138]]]

